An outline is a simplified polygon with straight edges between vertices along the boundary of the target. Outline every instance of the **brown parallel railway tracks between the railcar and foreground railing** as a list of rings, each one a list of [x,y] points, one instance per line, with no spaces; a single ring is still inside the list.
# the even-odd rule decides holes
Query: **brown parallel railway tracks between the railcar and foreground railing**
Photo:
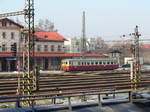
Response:
[[[2,77],[2,76],[0,76]],[[141,76],[141,87],[150,84],[150,73]],[[91,89],[116,88],[130,89],[129,74],[42,74],[39,79],[39,90],[35,94],[67,93],[69,91],[88,91]],[[17,89],[17,76],[4,76],[0,79],[0,96],[15,95]]]

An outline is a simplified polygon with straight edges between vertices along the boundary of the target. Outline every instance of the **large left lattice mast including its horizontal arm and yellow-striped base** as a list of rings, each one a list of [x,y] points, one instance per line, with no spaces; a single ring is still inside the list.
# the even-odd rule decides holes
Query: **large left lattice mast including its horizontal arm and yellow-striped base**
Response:
[[[32,95],[34,90],[38,89],[39,75],[38,69],[34,68],[34,0],[25,0],[25,9],[23,11],[0,14],[0,18],[9,16],[24,15],[27,30],[23,32],[23,77],[18,86],[18,93],[20,95]],[[20,88],[20,85],[21,88]],[[26,106],[32,106],[33,102],[27,101]]]

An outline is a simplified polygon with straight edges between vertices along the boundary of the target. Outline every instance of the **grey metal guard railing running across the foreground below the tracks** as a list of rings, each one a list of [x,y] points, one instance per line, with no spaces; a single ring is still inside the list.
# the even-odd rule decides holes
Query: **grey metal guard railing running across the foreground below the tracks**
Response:
[[[68,99],[68,109],[69,111],[72,111],[72,102],[71,98],[73,97],[85,97],[85,96],[97,96],[97,105],[99,107],[102,107],[102,95],[116,95],[116,94],[128,94],[128,99],[126,99],[128,102],[132,102],[132,91],[114,91],[114,92],[101,92],[101,93],[83,93],[78,95],[67,95],[67,96],[61,96],[62,94],[46,94],[46,95],[27,95],[27,96],[10,96],[10,97],[0,97],[0,99],[3,99],[0,101],[0,103],[10,103],[14,102],[16,103],[17,108],[21,108],[20,103],[24,101],[40,101],[40,100],[47,100],[47,99],[53,99],[56,101],[56,99],[62,99],[67,98]],[[30,98],[29,98],[30,97]],[[15,100],[11,100],[15,98]],[[29,98],[29,99],[23,99],[23,98]],[[33,105],[33,109],[34,109]]]

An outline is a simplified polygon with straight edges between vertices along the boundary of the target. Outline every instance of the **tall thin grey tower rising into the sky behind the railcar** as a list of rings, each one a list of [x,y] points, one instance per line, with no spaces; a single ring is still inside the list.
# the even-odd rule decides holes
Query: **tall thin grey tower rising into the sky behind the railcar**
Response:
[[[81,53],[86,53],[86,26],[85,26],[85,11],[83,11],[82,17],[82,38],[81,38]]]

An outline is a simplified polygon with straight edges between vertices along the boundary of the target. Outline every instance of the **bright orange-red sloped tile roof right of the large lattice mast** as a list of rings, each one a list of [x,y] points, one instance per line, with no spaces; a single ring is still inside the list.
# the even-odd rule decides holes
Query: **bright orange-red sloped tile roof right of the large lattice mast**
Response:
[[[56,40],[56,41],[64,41],[66,40],[62,35],[58,32],[35,32],[35,37],[43,40]]]

